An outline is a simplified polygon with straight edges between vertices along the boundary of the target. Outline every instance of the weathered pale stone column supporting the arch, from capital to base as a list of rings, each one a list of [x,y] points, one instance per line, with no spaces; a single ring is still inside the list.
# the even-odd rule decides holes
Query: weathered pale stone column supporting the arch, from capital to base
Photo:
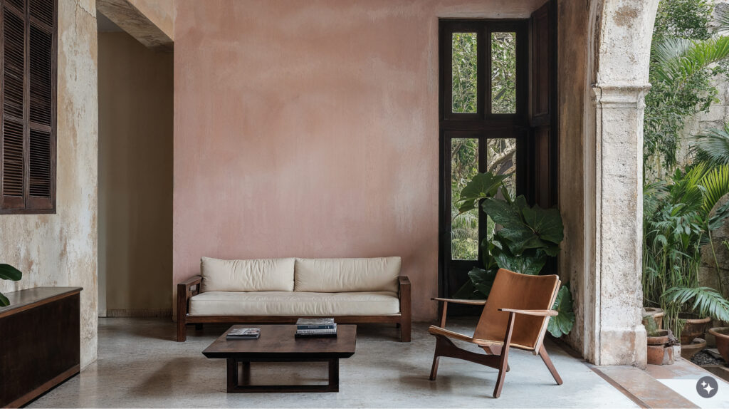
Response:
[[[597,84],[593,254],[585,308],[596,365],[646,365],[642,318],[643,111],[650,84]],[[589,359],[589,358],[588,358]]]

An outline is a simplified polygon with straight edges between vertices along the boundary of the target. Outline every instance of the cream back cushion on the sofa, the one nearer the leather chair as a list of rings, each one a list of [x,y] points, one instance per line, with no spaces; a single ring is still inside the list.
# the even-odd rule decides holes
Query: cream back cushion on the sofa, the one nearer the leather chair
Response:
[[[295,291],[397,292],[400,257],[296,259]]]

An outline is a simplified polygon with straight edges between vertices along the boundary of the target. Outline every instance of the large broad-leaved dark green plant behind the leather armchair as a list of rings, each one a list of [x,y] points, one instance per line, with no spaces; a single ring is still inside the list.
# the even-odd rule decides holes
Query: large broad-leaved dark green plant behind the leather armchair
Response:
[[[559,252],[559,244],[564,238],[559,211],[529,206],[523,196],[512,199],[504,185],[508,177],[491,172],[477,174],[461,190],[459,211],[477,209],[481,202],[481,209],[498,227],[491,238],[481,242],[483,268],[469,271],[469,281],[454,297],[486,298],[499,268],[537,275],[547,260]],[[550,319],[547,330],[560,337],[569,333],[574,324],[569,287],[563,286],[559,290],[553,308],[559,315]]]

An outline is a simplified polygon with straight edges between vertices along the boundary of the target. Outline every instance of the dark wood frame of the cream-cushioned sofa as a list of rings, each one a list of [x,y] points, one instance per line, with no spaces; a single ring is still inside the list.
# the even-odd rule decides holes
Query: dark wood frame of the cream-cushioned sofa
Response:
[[[190,315],[190,297],[200,294],[202,276],[194,276],[187,281],[177,284],[177,341],[187,340],[187,324],[200,326],[206,323],[228,324],[293,324],[299,318],[315,318],[310,316],[227,316],[227,315]],[[411,311],[410,311],[410,279],[408,276],[397,278],[398,297],[400,300],[400,313],[392,315],[342,315],[334,316],[338,324],[369,324],[390,323],[397,324],[400,329],[400,341],[410,342]]]

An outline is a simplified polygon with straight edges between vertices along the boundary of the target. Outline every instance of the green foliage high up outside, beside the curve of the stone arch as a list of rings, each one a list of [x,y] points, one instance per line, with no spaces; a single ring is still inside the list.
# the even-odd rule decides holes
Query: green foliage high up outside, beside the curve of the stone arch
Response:
[[[660,179],[677,167],[681,132],[690,117],[709,110],[716,101],[712,83],[725,73],[729,38],[723,35],[729,20],[720,15],[713,30],[714,10],[708,0],[663,0],[653,34],[649,81],[645,98],[644,174]]]

